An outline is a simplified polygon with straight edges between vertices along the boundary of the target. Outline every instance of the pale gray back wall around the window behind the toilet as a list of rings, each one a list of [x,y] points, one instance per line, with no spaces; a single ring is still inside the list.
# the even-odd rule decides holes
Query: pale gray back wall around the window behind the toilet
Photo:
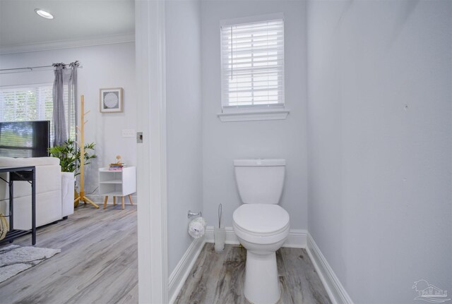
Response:
[[[286,184],[281,205],[292,229],[307,229],[307,71],[304,1],[202,1],[203,202],[209,225],[232,226],[241,204],[232,161],[240,158],[284,158]],[[286,120],[220,122],[220,20],[267,13],[285,15]]]

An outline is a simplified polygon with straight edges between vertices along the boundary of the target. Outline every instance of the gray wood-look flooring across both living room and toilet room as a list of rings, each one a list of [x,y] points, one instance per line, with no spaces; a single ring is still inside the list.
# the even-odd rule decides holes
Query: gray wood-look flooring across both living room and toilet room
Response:
[[[14,244],[31,245],[31,236]],[[136,206],[81,205],[64,221],[37,230],[37,247],[61,253],[0,284],[0,303],[138,303]],[[280,304],[331,303],[306,250],[277,252]],[[239,304],[246,250],[207,243],[175,303]],[[1,271],[1,269],[0,269]]]

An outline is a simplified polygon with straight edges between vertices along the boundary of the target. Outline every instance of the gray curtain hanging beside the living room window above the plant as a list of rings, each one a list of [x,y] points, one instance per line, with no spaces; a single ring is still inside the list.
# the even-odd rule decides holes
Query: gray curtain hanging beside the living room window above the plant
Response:
[[[75,133],[73,123],[77,123],[77,68],[78,61],[65,65],[54,63],[55,80],[53,87],[54,99],[54,145],[62,145]],[[64,90],[67,90],[67,101],[64,100]],[[72,138],[75,140],[75,138]]]

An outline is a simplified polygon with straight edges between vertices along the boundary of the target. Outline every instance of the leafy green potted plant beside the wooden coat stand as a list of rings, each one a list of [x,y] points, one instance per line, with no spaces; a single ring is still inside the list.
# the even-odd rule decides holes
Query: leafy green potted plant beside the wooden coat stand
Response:
[[[90,142],[85,144],[85,166],[90,164],[90,159],[97,157],[94,154],[95,143]],[[72,200],[74,196],[78,195],[74,187],[74,178],[80,174],[80,159],[81,159],[81,149],[76,145],[73,140],[66,140],[63,145],[54,146],[49,148],[49,154],[52,157],[57,157],[59,159],[59,164],[61,166],[61,173],[63,174],[63,183],[61,185],[61,190],[63,192],[63,200]],[[78,206],[78,202],[74,203],[74,207]]]

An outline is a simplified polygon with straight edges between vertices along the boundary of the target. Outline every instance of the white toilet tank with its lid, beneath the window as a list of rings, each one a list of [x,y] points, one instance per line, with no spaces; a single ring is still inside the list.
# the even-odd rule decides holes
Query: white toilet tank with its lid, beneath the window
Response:
[[[234,171],[244,204],[278,204],[283,193],[285,159],[236,159]]]

